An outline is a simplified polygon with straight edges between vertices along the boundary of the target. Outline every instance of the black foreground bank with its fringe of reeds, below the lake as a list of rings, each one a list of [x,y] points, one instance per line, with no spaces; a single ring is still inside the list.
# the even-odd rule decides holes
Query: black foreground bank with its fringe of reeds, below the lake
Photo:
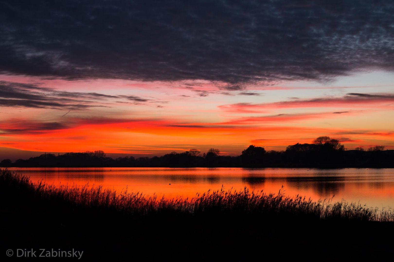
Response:
[[[245,189],[166,200],[53,187],[1,170],[0,199],[3,261],[341,260],[344,249],[345,257],[394,254],[392,212],[281,192]]]

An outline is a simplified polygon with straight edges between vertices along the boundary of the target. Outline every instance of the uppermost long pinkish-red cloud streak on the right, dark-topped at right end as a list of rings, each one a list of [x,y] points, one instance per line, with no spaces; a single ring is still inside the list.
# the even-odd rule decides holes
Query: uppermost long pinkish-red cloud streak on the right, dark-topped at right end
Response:
[[[294,99],[292,101],[280,101],[274,103],[236,103],[225,104],[218,106],[226,112],[237,113],[256,113],[262,110],[280,109],[280,108],[307,108],[307,107],[372,107],[384,106],[387,108],[387,103],[390,105],[394,103],[394,94],[380,93],[380,94],[363,94],[363,93],[348,93],[343,97],[319,97],[313,99]],[[334,112],[333,114],[346,113]]]

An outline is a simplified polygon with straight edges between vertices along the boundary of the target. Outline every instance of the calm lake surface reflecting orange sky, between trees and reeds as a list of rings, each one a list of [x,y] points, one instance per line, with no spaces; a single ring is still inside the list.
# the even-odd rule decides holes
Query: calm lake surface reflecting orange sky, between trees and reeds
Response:
[[[208,189],[264,190],[300,194],[313,200],[331,198],[372,207],[394,207],[394,169],[244,169],[244,168],[10,168],[59,185],[102,185],[117,191],[193,197]],[[171,184],[171,185],[170,185]]]

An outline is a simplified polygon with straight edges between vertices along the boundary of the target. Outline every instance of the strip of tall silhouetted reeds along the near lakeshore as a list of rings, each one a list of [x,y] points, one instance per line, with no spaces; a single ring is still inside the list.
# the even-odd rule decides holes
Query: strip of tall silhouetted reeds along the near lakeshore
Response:
[[[49,185],[32,182],[30,178],[6,169],[0,170],[0,186],[3,194],[18,193],[20,197],[41,201],[48,205],[67,206],[83,210],[95,209],[126,215],[260,215],[267,218],[301,218],[311,220],[355,220],[394,221],[392,209],[379,210],[360,203],[345,200],[312,201],[297,195],[294,198],[284,194],[283,187],[278,194],[264,191],[241,191],[235,189],[208,190],[197,193],[193,198],[159,198],[156,194],[145,196],[140,192],[116,192],[102,186]],[[12,201],[12,200],[11,200]]]

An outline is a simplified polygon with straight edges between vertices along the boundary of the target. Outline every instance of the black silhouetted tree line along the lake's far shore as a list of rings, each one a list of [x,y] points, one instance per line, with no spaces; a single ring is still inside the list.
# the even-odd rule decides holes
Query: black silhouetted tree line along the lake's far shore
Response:
[[[240,156],[222,156],[217,148],[201,154],[193,148],[189,151],[171,152],[152,158],[133,156],[107,157],[104,151],[65,154],[42,154],[12,162],[4,159],[0,167],[394,167],[394,150],[384,146],[365,150],[346,150],[337,139],[320,136],[309,143],[289,145],[284,151],[266,151],[250,145]]]

